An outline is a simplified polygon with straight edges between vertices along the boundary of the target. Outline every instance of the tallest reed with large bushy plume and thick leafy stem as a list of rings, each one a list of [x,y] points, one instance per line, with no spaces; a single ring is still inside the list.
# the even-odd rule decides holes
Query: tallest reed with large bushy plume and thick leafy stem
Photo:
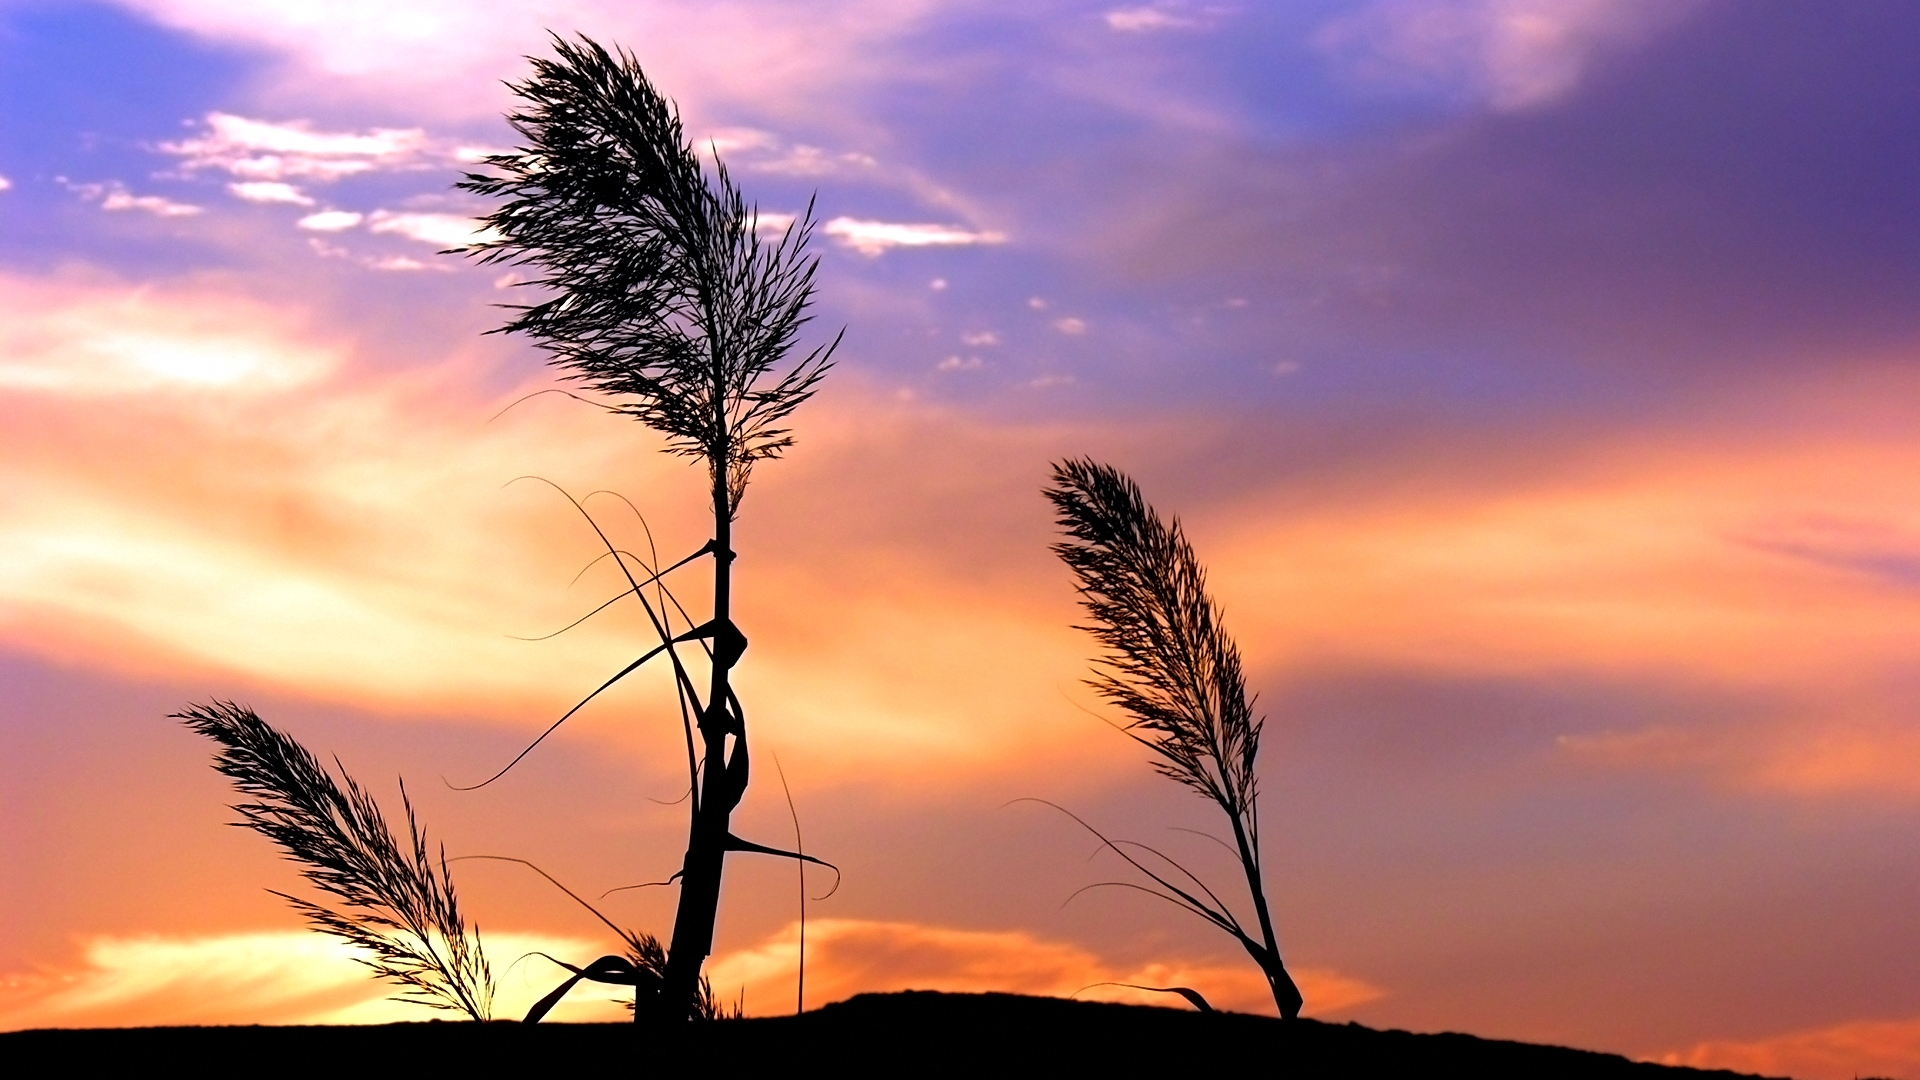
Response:
[[[509,306],[513,317],[493,332],[526,334],[568,380],[597,390],[603,407],[664,434],[668,454],[707,465],[712,538],[699,552],[657,569],[601,534],[626,575],[622,596],[645,607],[659,646],[588,696],[668,657],[691,822],[659,999],[639,1001],[636,1019],[687,1017],[712,951],[728,851],[816,861],[730,830],[749,778],[747,715],[730,676],[747,650],[732,619],[733,523],[753,467],[793,444],[785,421],[816,390],[839,336],[793,359],[814,292],[812,208],[762,240],[756,209],[718,154],[710,173],[701,167],[676,106],[632,56],[586,37],[555,37],[553,48],[555,58],[532,60],[532,79],[509,85],[522,100],[507,117],[522,144],[457,184],[505,200],[484,219],[497,238],[465,252],[528,267],[526,284],[547,294]],[[705,555],[712,617],[693,625],[664,577]],[[705,653],[705,694],[682,655],[687,644]]]

